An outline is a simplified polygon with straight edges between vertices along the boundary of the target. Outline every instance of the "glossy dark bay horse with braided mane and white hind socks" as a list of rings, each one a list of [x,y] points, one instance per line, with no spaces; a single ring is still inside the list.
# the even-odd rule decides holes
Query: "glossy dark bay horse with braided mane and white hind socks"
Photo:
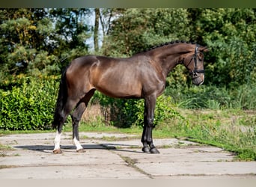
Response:
[[[171,42],[130,58],[87,55],[74,59],[61,76],[52,123],[57,128],[53,153],[61,153],[61,130],[71,111],[73,143],[77,152],[85,152],[79,143],[79,121],[95,90],[115,98],[144,99],[142,151],[159,153],[152,138],[156,98],[165,90],[165,79],[177,64],[189,70],[193,84],[201,85],[204,82],[203,52],[207,51],[195,43]]]

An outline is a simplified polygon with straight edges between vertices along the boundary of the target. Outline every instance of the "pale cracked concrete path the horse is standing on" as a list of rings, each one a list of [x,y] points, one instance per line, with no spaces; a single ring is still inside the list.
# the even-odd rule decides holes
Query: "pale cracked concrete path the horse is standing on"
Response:
[[[256,179],[256,162],[237,162],[218,147],[155,139],[160,154],[141,152],[134,135],[80,132],[85,153],[76,153],[72,134],[61,137],[63,153],[53,154],[55,133],[0,137],[0,179]]]

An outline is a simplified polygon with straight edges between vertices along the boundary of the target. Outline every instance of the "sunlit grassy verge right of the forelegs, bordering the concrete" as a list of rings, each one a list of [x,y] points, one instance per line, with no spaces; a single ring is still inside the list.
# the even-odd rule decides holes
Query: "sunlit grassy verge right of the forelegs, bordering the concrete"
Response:
[[[237,154],[237,159],[256,160],[255,114],[234,110],[178,110],[187,123],[170,121],[168,129],[176,137],[212,144]],[[165,124],[166,126],[166,124]]]

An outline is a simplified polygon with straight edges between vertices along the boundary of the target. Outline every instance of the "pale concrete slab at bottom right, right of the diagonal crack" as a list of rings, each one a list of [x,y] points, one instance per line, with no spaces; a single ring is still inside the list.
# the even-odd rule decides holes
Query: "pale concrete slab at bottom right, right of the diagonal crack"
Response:
[[[256,163],[249,162],[173,162],[138,163],[138,168],[153,177],[158,176],[250,176],[256,174]]]

